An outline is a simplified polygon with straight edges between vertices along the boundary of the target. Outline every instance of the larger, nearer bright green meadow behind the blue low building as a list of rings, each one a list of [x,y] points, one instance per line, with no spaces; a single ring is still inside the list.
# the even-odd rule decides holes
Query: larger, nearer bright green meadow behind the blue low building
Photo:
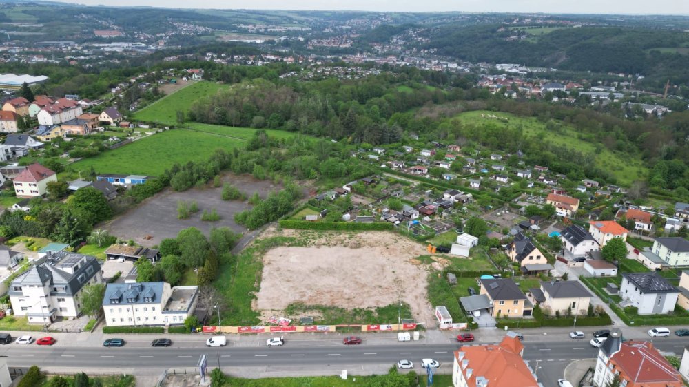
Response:
[[[96,157],[80,160],[72,164],[72,169],[88,171],[94,167],[99,174],[160,176],[174,163],[205,161],[214,149],[232,149],[243,143],[243,140],[234,138],[188,129],[172,129]]]

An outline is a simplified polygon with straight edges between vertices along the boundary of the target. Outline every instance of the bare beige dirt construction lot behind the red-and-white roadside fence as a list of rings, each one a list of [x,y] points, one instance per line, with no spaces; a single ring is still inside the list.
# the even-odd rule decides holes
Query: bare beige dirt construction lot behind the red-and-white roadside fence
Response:
[[[311,244],[265,254],[256,308],[280,311],[293,302],[375,308],[402,300],[417,322],[432,322],[428,273],[415,260],[427,254],[422,244],[388,232],[321,233]]]

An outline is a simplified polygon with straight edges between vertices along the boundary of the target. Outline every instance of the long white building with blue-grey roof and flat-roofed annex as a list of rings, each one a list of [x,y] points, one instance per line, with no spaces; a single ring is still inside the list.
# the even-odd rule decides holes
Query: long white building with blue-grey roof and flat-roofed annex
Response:
[[[103,313],[107,326],[181,325],[194,315],[198,286],[167,282],[107,284]]]

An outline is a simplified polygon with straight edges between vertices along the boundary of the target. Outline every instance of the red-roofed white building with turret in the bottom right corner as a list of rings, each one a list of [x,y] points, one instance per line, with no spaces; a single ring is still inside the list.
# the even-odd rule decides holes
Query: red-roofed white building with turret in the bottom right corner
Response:
[[[684,386],[679,371],[652,342],[623,341],[617,329],[598,350],[593,386],[609,386],[615,378],[624,387]]]

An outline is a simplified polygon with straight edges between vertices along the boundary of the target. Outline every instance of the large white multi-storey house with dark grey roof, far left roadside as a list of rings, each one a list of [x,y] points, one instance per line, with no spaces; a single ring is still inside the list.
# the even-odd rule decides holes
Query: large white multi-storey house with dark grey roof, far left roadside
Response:
[[[91,255],[62,251],[37,262],[12,280],[8,290],[14,315],[30,323],[50,325],[56,317],[79,317],[83,287],[103,283],[101,264]]]

